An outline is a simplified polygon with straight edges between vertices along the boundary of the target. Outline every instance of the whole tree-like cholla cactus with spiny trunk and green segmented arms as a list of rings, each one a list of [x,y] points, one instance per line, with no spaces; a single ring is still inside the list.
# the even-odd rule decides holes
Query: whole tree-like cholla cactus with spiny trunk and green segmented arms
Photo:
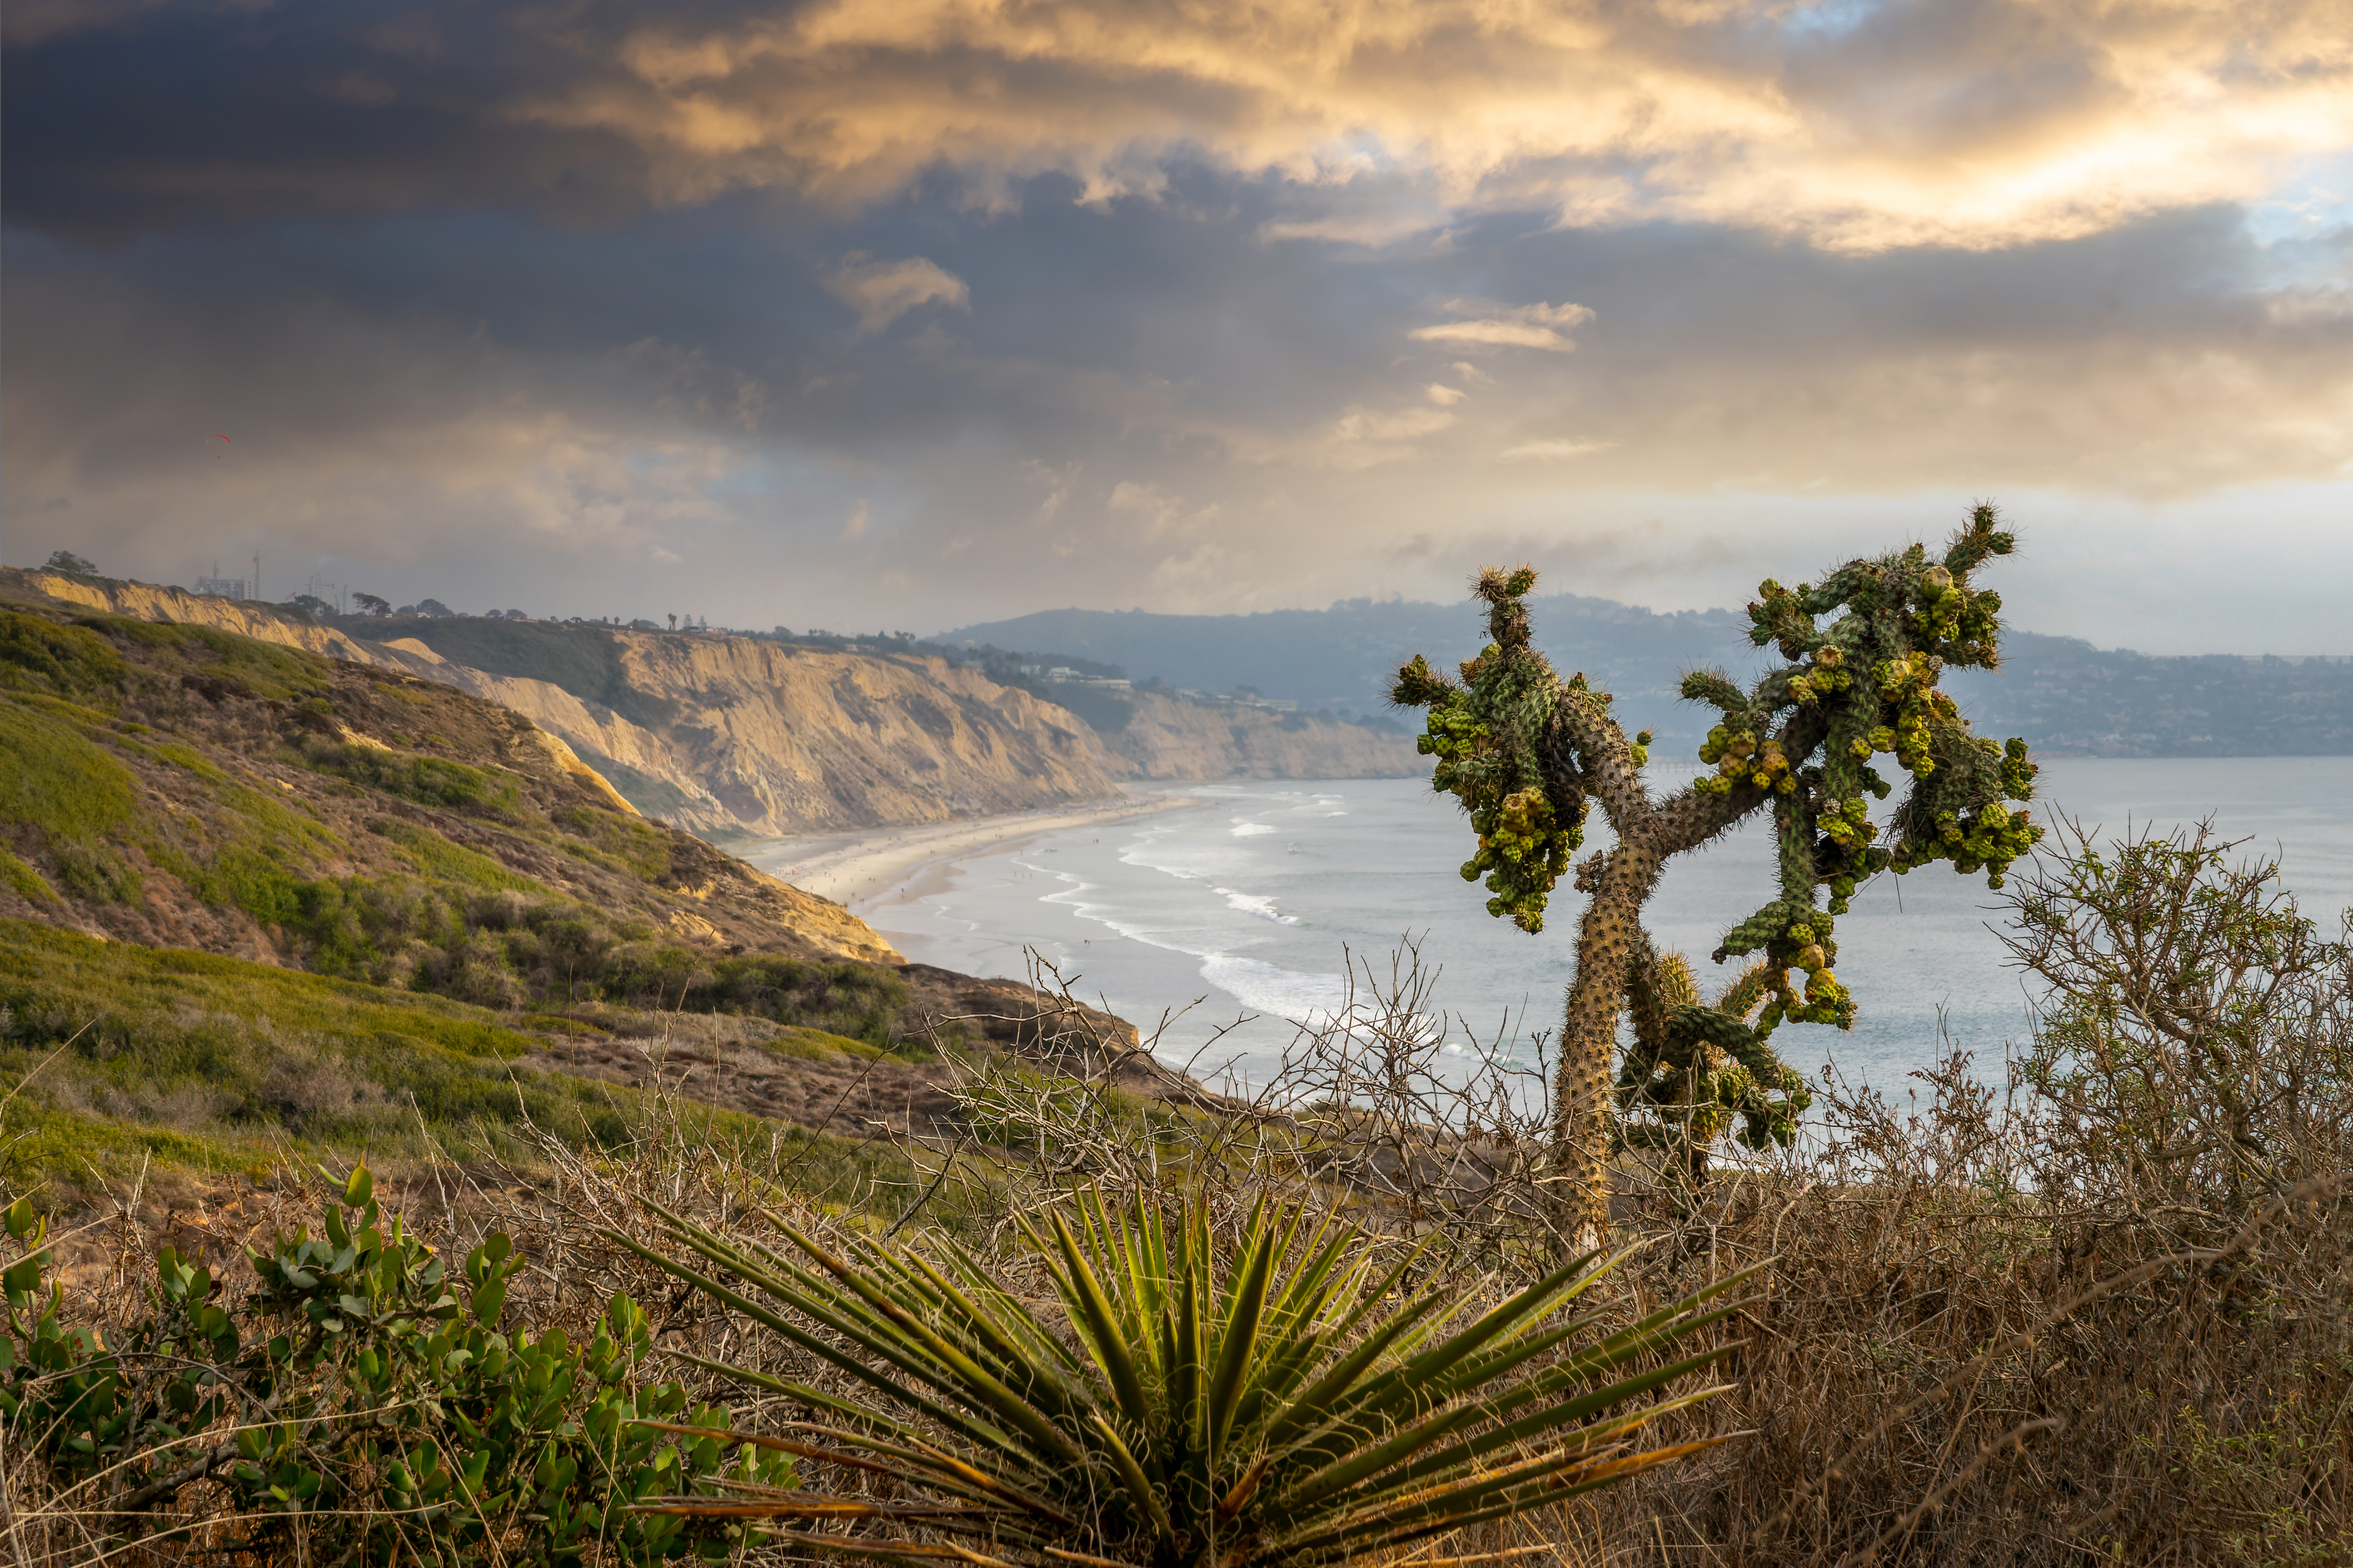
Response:
[[[2009,860],[2042,837],[2024,811],[2005,804],[2033,795],[2026,743],[1979,741],[1937,689],[1951,665],[1995,665],[2002,604],[1969,588],[1969,574],[1993,555],[2009,555],[2012,543],[1995,510],[1979,505],[1941,559],[1911,545],[1847,562],[1819,585],[1762,583],[1748,607],[1751,639],[1777,646],[1791,663],[1746,691],[1715,670],[1685,677],[1682,696],[1722,715],[1699,748],[1715,773],[1661,799],[1642,783],[1649,733],[1626,741],[1609,715],[1609,693],[1584,675],[1562,682],[1529,644],[1522,599],[1537,574],[1527,567],[1480,574],[1475,590],[1487,602],[1492,642],[1461,665],[1461,679],[1421,656],[1398,672],[1391,698],[1428,708],[1421,750],[1438,757],[1433,788],[1471,813],[1478,853],[1464,879],[1485,877],[1489,914],[1541,931],[1551,891],[1584,839],[1588,802],[1600,802],[1617,832],[1614,849],[1577,867],[1574,886],[1591,900],[1577,936],[1553,1095],[1558,1159],[1574,1178],[1591,1234],[1607,1218],[1614,1098],[1628,1110],[1682,1107],[1652,1124],[1652,1133],[1671,1128],[1657,1135],[1713,1138],[1739,1117],[1753,1143],[1791,1138],[1805,1088],[1765,1039],[1784,1020],[1854,1025],[1854,999],[1831,964],[1835,919],[1864,877],[1953,860],[1953,870],[1984,870],[2000,886]],[[1892,792],[1873,769],[1878,755],[1892,755],[1911,776],[1885,844],[1875,842],[1864,802],[1866,792],[1880,799]],[[1642,905],[1671,856],[1758,811],[1772,811],[1779,891],[1725,936],[1715,961],[1734,954],[1760,961],[1713,1009],[1697,1004],[1687,971],[1682,994],[1664,1001],[1671,969],[1642,931]],[[1817,889],[1828,889],[1826,905],[1817,903]],[[1652,1034],[1612,1095],[1619,1011],[1642,1004],[1647,992],[1661,999]],[[1680,1077],[1685,1088],[1666,1086],[1661,1074]],[[1697,1093],[1701,1077],[1706,1098]]]

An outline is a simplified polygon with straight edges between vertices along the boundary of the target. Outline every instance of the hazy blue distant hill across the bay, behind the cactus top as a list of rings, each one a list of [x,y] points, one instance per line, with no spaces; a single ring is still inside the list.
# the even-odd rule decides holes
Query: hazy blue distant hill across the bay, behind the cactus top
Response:
[[[1734,611],[1657,614],[1609,599],[1534,599],[1537,639],[1562,670],[1614,691],[1628,729],[1694,743],[1708,715],[1675,698],[1692,665],[1762,668]],[[1202,691],[1254,686],[1301,708],[1381,715],[1395,668],[1480,649],[1475,602],[1348,599],[1254,616],[1155,616],[1054,609],[941,632],[944,644],[1056,649],[1134,679]],[[2026,736],[2052,757],[2346,757],[2353,755],[2353,658],[2155,658],[2075,637],[2012,630],[1998,672],[1962,670],[1948,689],[1986,731]]]

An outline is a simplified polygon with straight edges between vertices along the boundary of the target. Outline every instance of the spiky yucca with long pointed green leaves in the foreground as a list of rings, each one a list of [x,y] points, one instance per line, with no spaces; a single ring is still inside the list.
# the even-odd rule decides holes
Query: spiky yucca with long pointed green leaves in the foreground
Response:
[[[807,1441],[762,1441],[904,1486],[887,1502],[739,1488],[642,1507],[765,1516],[779,1540],[885,1559],[1384,1561],[1706,1448],[1633,1439],[1722,1389],[1638,1401],[1725,1354],[1661,1356],[1722,1319],[1704,1305],[1746,1279],[1600,1335],[1569,1312],[1607,1272],[1598,1255],[1494,1302],[1485,1284],[1417,1279],[1419,1253],[1381,1269],[1355,1227],[1299,1206],[1261,1204],[1219,1267],[1200,1199],[1165,1222],[1146,1197],[1096,1194],[1028,1229],[1054,1321],[946,1239],[856,1239],[845,1258],[762,1211],[791,1241],[781,1253],[656,1213],[711,1272],[614,1239],[856,1389],[706,1361],[821,1415],[795,1427]]]

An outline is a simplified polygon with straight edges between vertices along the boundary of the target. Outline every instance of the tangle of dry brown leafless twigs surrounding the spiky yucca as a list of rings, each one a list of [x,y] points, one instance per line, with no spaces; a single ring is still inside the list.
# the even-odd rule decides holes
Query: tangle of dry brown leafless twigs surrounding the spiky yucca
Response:
[[[1737,1387],[1645,1432],[1737,1441],[1400,1568],[2353,1563],[2353,954],[2273,865],[2233,851],[2209,827],[2045,846],[2012,891],[2012,952],[2042,1013],[2007,1081],[1958,1048],[1899,1095],[1826,1070],[1819,1117],[1786,1147],[1727,1152],[1697,1178],[1664,1150],[1621,1150],[1612,1208],[1631,1255],[1593,1291],[1607,1314],[1633,1321],[1769,1262],[1769,1291],[1718,1331]],[[1501,1300],[1555,1267],[1553,1041],[1527,1060],[1504,1048],[1508,1027],[1482,1041],[1438,1016],[1412,943],[1386,966],[1351,959],[1344,1006],[1304,1020],[1247,1095],[1158,1067],[1167,1020],[1113,1039],[1052,969],[1038,980],[1052,999],[1012,1020],[1016,1056],[955,1046],[951,1025],[1005,1020],[936,1020],[958,1107],[936,1133],[715,1143],[656,1079],[638,1143],[539,1128],[534,1171],[435,1161],[407,1180],[409,1213],[445,1248],[515,1234],[529,1267],[508,1314],[534,1328],[579,1333],[614,1291],[635,1295],[664,1375],[784,1441],[807,1403],[718,1363],[847,1392],[840,1366],[678,1288],[614,1232],[647,1239],[661,1208],[755,1248],[779,1239],[769,1215],[816,1241],[953,1234],[1005,1291],[1047,1302],[1024,1225],[1047,1229],[1085,1192],[1195,1192],[1224,1246],[1273,1197],[1351,1222],[1372,1253],[1424,1248],[1457,1295],[1487,1281]],[[256,1192],[235,1225],[296,1206]],[[75,1281],[85,1321],[132,1307],[153,1244],[136,1211]],[[89,1561],[89,1521],[21,1455],[0,1462],[0,1563]],[[814,1460],[807,1476],[845,1497],[904,1493]],[[200,1519],[202,1488],[179,1507]],[[805,1554],[739,1561],[767,1556]]]

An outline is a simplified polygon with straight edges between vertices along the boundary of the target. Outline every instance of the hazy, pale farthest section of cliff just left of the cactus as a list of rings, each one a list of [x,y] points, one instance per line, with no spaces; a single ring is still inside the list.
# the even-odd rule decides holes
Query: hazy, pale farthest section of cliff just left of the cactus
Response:
[[[1412,778],[1414,738],[1318,715],[1193,703],[1136,691],[1122,724],[1096,731],[1115,778]]]

